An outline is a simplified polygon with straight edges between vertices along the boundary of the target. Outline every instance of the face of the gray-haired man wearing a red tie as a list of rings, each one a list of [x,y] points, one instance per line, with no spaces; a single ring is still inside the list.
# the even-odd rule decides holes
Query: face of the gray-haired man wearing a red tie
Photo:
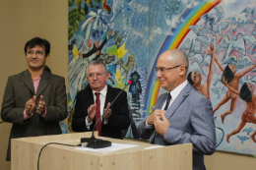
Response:
[[[101,64],[90,65],[88,67],[87,80],[88,84],[95,91],[100,91],[106,85],[109,74],[105,73],[104,66]]]

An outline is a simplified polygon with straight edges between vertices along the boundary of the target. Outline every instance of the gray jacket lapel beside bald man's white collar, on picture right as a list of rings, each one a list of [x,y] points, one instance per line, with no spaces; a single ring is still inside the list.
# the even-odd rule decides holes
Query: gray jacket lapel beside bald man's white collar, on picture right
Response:
[[[178,106],[183,102],[183,100],[189,95],[192,86],[188,83],[178,94],[175,100],[172,102],[170,107],[167,109],[165,113],[166,119],[169,119],[178,108]]]

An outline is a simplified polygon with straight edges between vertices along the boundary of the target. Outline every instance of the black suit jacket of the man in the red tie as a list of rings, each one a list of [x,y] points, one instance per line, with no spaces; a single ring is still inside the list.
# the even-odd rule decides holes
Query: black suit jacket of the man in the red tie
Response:
[[[106,98],[104,108],[108,102],[112,102],[117,94],[121,91],[119,88],[114,88],[107,85]],[[96,124],[96,118],[90,126],[90,130],[86,127],[86,117],[88,116],[88,108],[95,103],[93,90],[90,85],[77,94],[77,102],[73,115],[72,129],[75,132],[93,131]],[[101,121],[101,136],[113,139],[122,139],[122,130],[127,129],[130,125],[129,110],[127,102],[127,93],[121,92],[115,102],[110,106],[111,116],[107,124]]]

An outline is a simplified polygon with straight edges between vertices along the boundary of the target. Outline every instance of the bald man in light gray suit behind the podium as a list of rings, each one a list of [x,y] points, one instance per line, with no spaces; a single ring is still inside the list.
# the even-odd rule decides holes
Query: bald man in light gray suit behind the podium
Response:
[[[193,143],[193,170],[204,170],[204,154],[216,149],[215,124],[210,100],[186,81],[188,61],[178,49],[160,55],[156,72],[168,92],[158,98],[154,111],[139,125],[139,135],[150,143]]]

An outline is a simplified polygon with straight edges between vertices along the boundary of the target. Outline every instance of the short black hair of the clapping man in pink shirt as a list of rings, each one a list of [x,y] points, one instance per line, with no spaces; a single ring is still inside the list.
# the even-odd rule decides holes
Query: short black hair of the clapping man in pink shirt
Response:
[[[50,43],[46,39],[42,39],[39,37],[33,37],[31,40],[29,40],[24,48],[25,53],[27,53],[28,48],[33,48],[34,46],[39,45],[41,47],[44,47],[45,49],[45,57],[50,53]]]

